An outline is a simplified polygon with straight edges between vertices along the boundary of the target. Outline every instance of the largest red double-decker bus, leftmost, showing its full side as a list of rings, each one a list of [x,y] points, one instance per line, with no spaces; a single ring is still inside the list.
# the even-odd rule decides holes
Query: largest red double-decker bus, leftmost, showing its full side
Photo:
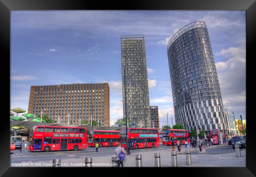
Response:
[[[87,148],[86,129],[55,126],[34,126],[30,130],[30,151],[78,150]]]

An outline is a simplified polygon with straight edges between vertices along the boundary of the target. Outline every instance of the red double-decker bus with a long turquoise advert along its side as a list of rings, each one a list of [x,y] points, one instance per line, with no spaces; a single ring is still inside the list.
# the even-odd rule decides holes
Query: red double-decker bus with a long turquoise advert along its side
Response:
[[[126,143],[130,144],[131,149],[144,147],[158,147],[158,129],[128,128],[128,139],[126,138],[126,128],[121,129],[121,147],[126,148]]]

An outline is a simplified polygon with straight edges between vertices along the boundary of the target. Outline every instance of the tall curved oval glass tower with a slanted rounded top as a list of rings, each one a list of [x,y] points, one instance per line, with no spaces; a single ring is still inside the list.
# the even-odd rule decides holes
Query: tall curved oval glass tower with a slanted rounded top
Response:
[[[167,44],[176,124],[227,133],[221,89],[206,23],[192,22]]]

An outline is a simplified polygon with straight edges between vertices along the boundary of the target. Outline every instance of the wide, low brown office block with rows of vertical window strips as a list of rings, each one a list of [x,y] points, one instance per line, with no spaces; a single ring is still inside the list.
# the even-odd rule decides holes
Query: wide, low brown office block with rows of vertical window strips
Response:
[[[99,120],[109,125],[108,83],[31,86],[28,113],[43,111],[63,124]]]

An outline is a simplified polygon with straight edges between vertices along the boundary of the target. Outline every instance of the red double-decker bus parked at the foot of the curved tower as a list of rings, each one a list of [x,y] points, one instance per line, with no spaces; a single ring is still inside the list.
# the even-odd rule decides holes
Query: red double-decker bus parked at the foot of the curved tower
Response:
[[[186,134],[187,132],[187,134]],[[172,140],[174,141],[174,145],[176,145],[176,141],[180,141],[180,144],[185,144],[185,141],[189,142],[188,131],[186,129],[164,129],[163,130],[163,145],[172,145]]]

